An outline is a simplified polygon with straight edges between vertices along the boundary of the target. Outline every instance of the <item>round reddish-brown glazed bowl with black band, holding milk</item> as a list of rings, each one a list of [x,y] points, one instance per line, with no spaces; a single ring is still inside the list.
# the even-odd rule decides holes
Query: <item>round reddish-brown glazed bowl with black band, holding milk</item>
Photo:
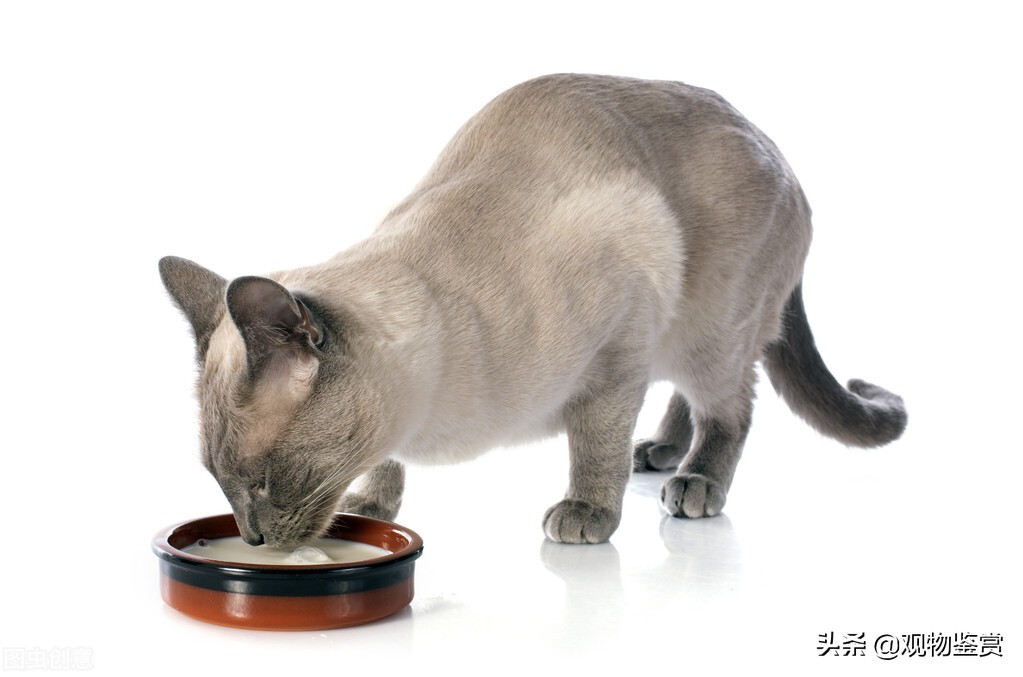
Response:
[[[327,538],[367,543],[388,554],[343,563],[250,565],[185,552],[201,539],[238,536],[231,514],[170,527],[152,540],[161,595],[207,623],[258,630],[323,630],[375,621],[412,600],[422,539],[400,525],[339,513]]]

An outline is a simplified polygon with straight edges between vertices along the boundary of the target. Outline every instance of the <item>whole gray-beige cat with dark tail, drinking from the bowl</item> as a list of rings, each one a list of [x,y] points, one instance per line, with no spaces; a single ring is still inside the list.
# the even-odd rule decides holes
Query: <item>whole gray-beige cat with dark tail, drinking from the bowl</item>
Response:
[[[488,103],[325,263],[228,281],[167,257],[160,272],[195,340],[203,462],[249,543],[299,543],[338,510],[393,520],[403,463],[561,432],[568,490],[544,533],[598,543],[633,470],[677,466],[672,515],[721,511],[758,361],[820,433],[902,434],[898,396],[843,388],[814,347],[810,232],[781,152],[719,95],[554,75]],[[660,427],[633,446],[665,379]]]

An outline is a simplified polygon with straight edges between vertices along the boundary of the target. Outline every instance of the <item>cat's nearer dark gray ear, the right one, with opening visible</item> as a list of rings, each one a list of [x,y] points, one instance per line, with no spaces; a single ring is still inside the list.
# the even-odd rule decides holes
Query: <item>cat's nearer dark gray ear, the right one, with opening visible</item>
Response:
[[[323,337],[305,304],[271,279],[239,277],[227,285],[226,298],[254,371],[283,350],[310,354]]]

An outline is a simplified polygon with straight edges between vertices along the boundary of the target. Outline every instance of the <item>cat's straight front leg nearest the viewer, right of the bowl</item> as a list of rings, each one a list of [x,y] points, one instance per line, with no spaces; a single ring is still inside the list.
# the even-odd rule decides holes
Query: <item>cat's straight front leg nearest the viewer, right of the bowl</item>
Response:
[[[565,412],[569,437],[569,489],[543,516],[547,538],[560,543],[603,543],[622,518],[632,469],[632,431],[646,383],[573,401]]]

